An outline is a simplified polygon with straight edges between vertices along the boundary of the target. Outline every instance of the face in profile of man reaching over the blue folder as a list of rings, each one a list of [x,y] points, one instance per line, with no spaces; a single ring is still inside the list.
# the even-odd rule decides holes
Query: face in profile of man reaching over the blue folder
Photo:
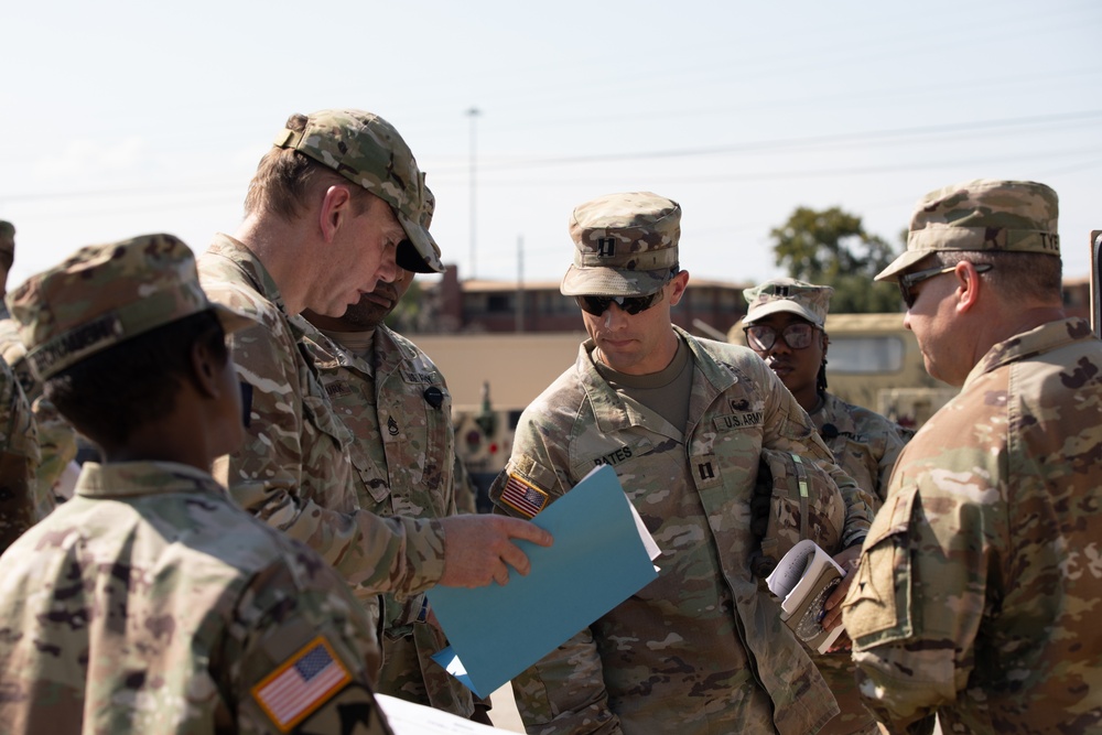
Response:
[[[326,244],[321,278],[312,284],[306,306],[318,314],[341,316],[379,283],[390,283],[398,275],[395,256],[406,239],[398,218],[377,196],[356,213],[349,206],[331,242]]]

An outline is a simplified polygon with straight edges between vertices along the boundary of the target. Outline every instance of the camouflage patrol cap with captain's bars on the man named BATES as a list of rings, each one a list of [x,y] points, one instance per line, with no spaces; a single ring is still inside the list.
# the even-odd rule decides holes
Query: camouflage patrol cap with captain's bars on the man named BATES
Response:
[[[574,208],[570,237],[563,295],[649,295],[678,266],[681,205],[650,192],[608,194]]]

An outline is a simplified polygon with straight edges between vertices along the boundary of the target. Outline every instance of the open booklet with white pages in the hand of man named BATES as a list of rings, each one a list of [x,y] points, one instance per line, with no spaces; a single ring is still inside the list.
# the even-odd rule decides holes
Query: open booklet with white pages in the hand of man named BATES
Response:
[[[810,539],[800,541],[785,554],[766,579],[769,591],[781,599],[780,619],[796,637],[819,653],[825,653],[842,635],[842,626],[824,630],[820,624],[823,604],[845,572]]]

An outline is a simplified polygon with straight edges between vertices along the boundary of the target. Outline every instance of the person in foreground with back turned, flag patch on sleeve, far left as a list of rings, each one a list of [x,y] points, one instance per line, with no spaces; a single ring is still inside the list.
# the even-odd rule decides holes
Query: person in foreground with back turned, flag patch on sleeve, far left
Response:
[[[345,583],[209,474],[244,437],[226,332],[169,235],[9,295],[46,394],[102,450],[0,556],[6,733],[389,733]]]

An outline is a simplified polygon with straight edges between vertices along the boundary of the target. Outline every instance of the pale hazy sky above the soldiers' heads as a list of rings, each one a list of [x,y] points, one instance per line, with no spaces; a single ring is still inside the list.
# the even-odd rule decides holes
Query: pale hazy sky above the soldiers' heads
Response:
[[[325,14],[322,14],[325,13]],[[406,137],[445,262],[558,280],[574,205],[679,201],[701,278],[778,274],[768,233],[838,205],[896,241],[974,177],[1060,195],[1068,277],[1102,228],[1102,3],[188,3],[4,0],[0,218],[9,285],[82,245],[233,231],[291,112],[359,107]]]

